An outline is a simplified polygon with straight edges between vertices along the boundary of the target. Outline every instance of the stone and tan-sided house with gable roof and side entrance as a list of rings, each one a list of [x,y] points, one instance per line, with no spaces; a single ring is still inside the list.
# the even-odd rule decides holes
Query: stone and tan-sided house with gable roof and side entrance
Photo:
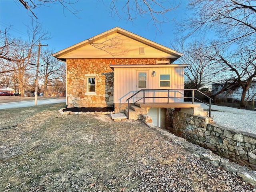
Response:
[[[124,112],[127,99],[141,89],[184,89],[186,64],[172,64],[181,53],[116,27],[53,54],[66,62],[66,104],[112,107]],[[146,102],[183,102],[182,91],[146,93]],[[175,96],[177,98],[171,98]],[[143,92],[130,99],[135,102]],[[142,102],[142,100],[141,100]],[[147,107],[147,106],[144,106]],[[190,106],[191,107],[191,106]],[[161,108],[151,115],[160,119]],[[150,110],[147,112],[150,113]],[[162,112],[164,113],[164,112]]]

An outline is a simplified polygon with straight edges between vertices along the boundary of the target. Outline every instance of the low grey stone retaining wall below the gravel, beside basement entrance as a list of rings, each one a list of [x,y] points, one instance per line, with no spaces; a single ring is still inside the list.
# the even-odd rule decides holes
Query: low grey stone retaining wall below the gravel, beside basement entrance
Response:
[[[176,136],[210,149],[219,156],[256,170],[256,135],[211,122],[211,118],[175,110],[173,126],[169,130]]]

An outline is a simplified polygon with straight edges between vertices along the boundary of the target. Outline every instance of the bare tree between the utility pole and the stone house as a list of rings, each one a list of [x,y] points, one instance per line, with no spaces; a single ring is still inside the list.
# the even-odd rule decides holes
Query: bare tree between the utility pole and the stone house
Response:
[[[57,78],[59,78],[59,71],[61,67],[61,62],[56,58],[52,57],[53,51],[45,49],[42,51],[42,62],[40,66],[40,77],[43,79],[43,91],[44,97],[47,97],[47,88],[52,84]]]

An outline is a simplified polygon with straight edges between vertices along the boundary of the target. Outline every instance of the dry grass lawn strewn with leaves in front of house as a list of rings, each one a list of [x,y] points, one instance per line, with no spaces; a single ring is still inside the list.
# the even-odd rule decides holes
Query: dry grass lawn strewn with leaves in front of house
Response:
[[[1,192],[256,191],[139,121],[64,116],[63,106],[1,110]]]

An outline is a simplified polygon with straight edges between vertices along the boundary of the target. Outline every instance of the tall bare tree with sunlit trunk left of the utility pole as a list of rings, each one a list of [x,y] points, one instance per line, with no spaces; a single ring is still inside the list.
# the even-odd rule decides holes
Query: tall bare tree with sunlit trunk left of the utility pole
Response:
[[[9,72],[12,73],[10,76],[13,76],[13,79],[18,78],[18,87],[20,88],[21,96],[24,96],[27,84],[27,78],[25,77],[28,75],[28,71],[32,69],[30,63],[36,61],[36,47],[34,44],[37,44],[40,40],[47,40],[49,38],[48,32],[42,30],[40,24],[34,24],[33,22],[28,27],[28,36],[28,41],[20,38],[8,39],[8,42],[12,42],[12,44],[7,44],[4,49],[8,50],[6,51],[6,56],[11,59],[0,58],[0,72]],[[16,85],[16,80],[14,85]]]

